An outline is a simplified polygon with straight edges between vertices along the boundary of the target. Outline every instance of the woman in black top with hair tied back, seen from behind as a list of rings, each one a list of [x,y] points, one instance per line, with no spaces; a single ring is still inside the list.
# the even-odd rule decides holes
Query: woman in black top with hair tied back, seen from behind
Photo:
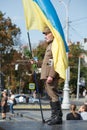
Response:
[[[66,115],[66,120],[81,120],[81,115],[76,111],[76,105],[70,105],[70,113]]]

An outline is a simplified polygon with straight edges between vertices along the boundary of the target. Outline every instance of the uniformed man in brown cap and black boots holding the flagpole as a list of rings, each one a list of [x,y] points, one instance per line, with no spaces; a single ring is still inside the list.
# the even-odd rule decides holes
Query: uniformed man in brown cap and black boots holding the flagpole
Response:
[[[44,80],[45,90],[50,97],[51,106],[51,118],[46,122],[48,125],[62,124],[62,111],[61,104],[58,99],[58,80],[59,74],[54,70],[53,56],[52,56],[52,42],[54,36],[50,29],[46,27],[43,34],[45,35],[45,40],[48,43],[48,47],[45,52],[42,69],[41,69],[41,79]]]

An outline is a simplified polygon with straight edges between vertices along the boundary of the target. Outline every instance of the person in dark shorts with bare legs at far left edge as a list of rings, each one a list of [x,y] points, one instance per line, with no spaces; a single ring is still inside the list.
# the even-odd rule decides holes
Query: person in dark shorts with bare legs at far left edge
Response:
[[[2,119],[6,119],[6,110],[7,110],[7,93],[5,91],[2,92],[2,98],[1,98],[1,115]]]

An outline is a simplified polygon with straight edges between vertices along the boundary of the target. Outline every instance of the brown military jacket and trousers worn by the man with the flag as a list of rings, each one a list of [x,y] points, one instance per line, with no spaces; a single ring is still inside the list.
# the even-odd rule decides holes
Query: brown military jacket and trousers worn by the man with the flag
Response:
[[[45,89],[53,102],[58,101],[57,87],[58,87],[58,74],[54,70],[53,57],[51,51],[52,43],[50,43],[46,49],[42,69],[41,79],[45,80],[48,76],[53,78],[52,83],[45,82]]]

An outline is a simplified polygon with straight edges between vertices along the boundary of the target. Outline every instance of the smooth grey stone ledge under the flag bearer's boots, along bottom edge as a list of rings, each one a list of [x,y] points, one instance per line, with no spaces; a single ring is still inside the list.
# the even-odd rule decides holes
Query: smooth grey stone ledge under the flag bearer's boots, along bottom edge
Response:
[[[7,121],[0,122],[0,130],[87,130],[87,121],[63,121],[53,126],[41,121]]]

